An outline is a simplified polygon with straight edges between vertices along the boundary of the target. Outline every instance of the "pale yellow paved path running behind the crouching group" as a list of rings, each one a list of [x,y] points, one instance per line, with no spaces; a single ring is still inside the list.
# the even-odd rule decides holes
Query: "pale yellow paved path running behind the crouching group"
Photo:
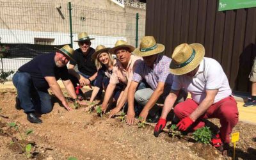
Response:
[[[58,81],[61,88],[64,88],[63,83],[61,81]],[[15,88],[11,81],[8,81],[4,84],[0,84],[0,89],[4,88]],[[88,88],[89,89],[89,88]],[[248,122],[256,124],[256,107],[250,107],[250,108],[244,108],[243,107],[243,99],[240,97],[235,97],[237,100],[237,106],[239,110],[239,121]]]

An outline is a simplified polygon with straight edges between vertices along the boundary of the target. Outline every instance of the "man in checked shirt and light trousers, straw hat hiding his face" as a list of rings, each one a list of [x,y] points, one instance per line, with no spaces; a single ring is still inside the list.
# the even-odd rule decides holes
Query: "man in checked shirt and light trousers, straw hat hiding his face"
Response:
[[[132,83],[128,92],[127,124],[134,124],[134,99],[143,110],[140,117],[146,120],[147,116],[153,122],[157,122],[161,115],[161,109],[155,105],[163,104],[165,97],[170,93],[173,82],[173,75],[169,72],[171,59],[160,55],[164,51],[163,44],[157,44],[153,36],[141,38],[140,47],[134,50],[136,56],[143,58],[135,68]],[[145,79],[150,88],[136,91],[140,81]],[[149,115],[148,115],[149,113]]]

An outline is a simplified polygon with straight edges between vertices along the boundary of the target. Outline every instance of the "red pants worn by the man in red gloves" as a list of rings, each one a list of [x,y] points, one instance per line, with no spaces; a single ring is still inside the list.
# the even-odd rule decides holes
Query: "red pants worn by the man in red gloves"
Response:
[[[238,122],[238,110],[236,104],[236,100],[231,96],[212,104],[204,115],[200,116],[191,127],[193,127],[194,130],[204,127],[205,124],[201,121],[203,118],[218,118],[220,119],[221,124],[221,141],[223,143],[230,143],[230,134]],[[180,120],[182,120],[193,113],[197,107],[198,104],[194,100],[187,99],[175,106],[174,113]]]

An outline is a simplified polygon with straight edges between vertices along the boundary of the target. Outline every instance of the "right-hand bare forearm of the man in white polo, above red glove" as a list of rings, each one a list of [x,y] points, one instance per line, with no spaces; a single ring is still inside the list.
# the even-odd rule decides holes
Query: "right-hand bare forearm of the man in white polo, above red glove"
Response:
[[[218,90],[206,90],[206,97],[202,102],[199,104],[198,108],[193,111],[189,115],[189,118],[195,122],[199,116],[203,115],[205,111],[213,104],[215,96],[217,95]]]

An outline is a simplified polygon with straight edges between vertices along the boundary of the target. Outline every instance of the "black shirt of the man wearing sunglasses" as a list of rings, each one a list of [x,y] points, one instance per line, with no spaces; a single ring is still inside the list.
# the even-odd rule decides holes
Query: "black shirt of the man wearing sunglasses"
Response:
[[[70,60],[71,65],[76,65],[79,70],[79,72],[82,72],[83,74],[87,76],[93,76],[97,72],[97,68],[95,66],[94,61],[92,60],[92,54],[95,52],[95,49],[90,47],[88,54],[84,56],[81,49],[76,49],[75,54],[73,56],[73,60]]]

